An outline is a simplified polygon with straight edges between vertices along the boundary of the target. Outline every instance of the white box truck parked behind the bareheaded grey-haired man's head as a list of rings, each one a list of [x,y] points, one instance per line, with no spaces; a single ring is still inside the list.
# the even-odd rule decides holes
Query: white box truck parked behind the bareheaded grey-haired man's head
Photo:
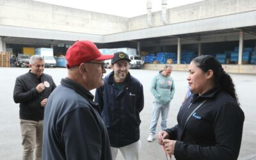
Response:
[[[54,59],[52,48],[37,48],[35,54],[44,57],[45,67],[56,67],[56,60]]]

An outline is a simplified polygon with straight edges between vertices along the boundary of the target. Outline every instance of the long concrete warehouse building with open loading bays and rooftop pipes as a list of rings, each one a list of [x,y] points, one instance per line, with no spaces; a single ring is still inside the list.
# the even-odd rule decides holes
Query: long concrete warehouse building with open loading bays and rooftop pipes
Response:
[[[31,0],[0,0],[0,51],[18,54],[51,47],[65,55],[76,40],[99,49],[129,47],[145,57],[144,68],[174,63],[186,70],[191,58],[210,54],[227,72],[256,74],[255,0],[205,0],[132,18],[77,10]],[[33,51],[32,51],[33,52]],[[171,61],[168,61],[171,60]]]

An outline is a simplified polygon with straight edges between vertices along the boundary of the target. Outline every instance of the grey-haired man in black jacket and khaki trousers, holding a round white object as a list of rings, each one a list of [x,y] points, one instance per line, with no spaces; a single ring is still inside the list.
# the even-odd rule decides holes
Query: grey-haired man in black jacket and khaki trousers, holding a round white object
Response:
[[[22,159],[41,159],[44,109],[47,98],[56,88],[52,77],[44,74],[44,58],[31,56],[28,73],[17,77],[13,100],[20,103],[20,130],[22,134]]]

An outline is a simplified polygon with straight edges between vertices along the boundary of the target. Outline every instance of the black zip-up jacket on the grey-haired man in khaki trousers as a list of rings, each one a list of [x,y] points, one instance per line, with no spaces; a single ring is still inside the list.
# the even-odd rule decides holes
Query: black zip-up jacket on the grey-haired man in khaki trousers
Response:
[[[39,83],[49,83],[49,87],[38,93],[36,86]],[[44,108],[41,106],[41,101],[47,99],[51,92],[56,88],[51,76],[42,74],[40,79],[36,74],[28,73],[17,77],[13,90],[13,100],[15,103],[20,103],[20,119],[23,120],[43,120]]]

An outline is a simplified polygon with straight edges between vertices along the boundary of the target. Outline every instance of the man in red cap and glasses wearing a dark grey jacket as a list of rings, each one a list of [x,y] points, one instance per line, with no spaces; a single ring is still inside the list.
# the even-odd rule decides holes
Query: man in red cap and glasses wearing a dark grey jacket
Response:
[[[47,101],[43,159],[111,160],[108,131],[90,90],[104,84],[102,55],[90,41],[77,41],[67,51],[68,76]]]

